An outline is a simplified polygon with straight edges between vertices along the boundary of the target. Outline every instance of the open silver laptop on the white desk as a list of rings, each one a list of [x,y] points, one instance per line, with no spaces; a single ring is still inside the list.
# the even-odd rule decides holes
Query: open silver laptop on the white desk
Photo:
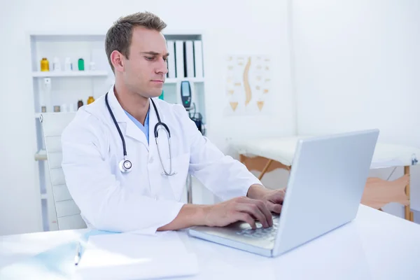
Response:
[[[276,257],[356,218],[379,130],[347,132],[297,142],[281,214],[255,230],[238,221],[196,226],[191,237]]]

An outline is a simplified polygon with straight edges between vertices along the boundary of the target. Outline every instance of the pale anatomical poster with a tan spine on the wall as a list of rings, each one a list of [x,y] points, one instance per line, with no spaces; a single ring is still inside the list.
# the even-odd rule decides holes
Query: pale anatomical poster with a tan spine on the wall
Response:
[[[264,55],[237,55],[226,59],[225,115],[260,115],[269,102],[270,59]]]

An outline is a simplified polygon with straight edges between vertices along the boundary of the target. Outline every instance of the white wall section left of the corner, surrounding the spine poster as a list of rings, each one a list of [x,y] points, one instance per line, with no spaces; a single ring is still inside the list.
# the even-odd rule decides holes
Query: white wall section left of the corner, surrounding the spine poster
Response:
[[[208,132],[223,151],[227,137],[293,133],[286,1],[11,1],[0,9],[0,235],[41,230],[39,190],[34,188],[34,114],[25,32],[105,33],[120,15],[139,10],[160,15],[168,24],[167,30],[204,31]],[[226,55],[235,53],[272,56],[278,93],[274,102],[279,104],[275,116],[223,119],[221,69]],[[20,113],[16,113],[18,109]],[[6,138],[5,132],[11,135],[13,130],[13,137]]]

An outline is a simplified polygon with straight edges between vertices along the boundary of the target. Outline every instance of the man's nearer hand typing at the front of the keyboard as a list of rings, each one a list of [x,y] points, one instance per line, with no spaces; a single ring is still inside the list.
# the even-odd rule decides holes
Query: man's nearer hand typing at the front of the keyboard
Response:
[[[255,220],[260,221],[264,228],[273,225],[272,215],[266,204],[249,197],[237,197],[204,209],[204,224],[208,226],[223,227],[244,221],[255,229]]]

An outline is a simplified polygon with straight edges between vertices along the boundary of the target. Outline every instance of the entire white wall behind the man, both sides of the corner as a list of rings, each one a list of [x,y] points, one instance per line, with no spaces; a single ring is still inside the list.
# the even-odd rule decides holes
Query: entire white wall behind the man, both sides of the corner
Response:
[[[175,12],[179,7],[183,9]],[[0,235],[41,230],[25,32],[106,32],[120,15],[139,10],[160,15],[168,30],[204,32],[209,137],[223,151],[228,151],[228,137],[290,135],[295,128],[313,133],[379,127],[381,140],[420,146],[419,1],[293,1],[298,127],[290,86],[286,0],[12,1],[0,9]],[[223,118],[221,69],[225,56],[235,53],[272,56],[278,113]],[[386,177],[389,172],[377,175]],[[281,186],[284,182],[277,175],[267,174],[265,181]],[[419,167],[413,168],[415,209],[420,209],[419,182]]]

